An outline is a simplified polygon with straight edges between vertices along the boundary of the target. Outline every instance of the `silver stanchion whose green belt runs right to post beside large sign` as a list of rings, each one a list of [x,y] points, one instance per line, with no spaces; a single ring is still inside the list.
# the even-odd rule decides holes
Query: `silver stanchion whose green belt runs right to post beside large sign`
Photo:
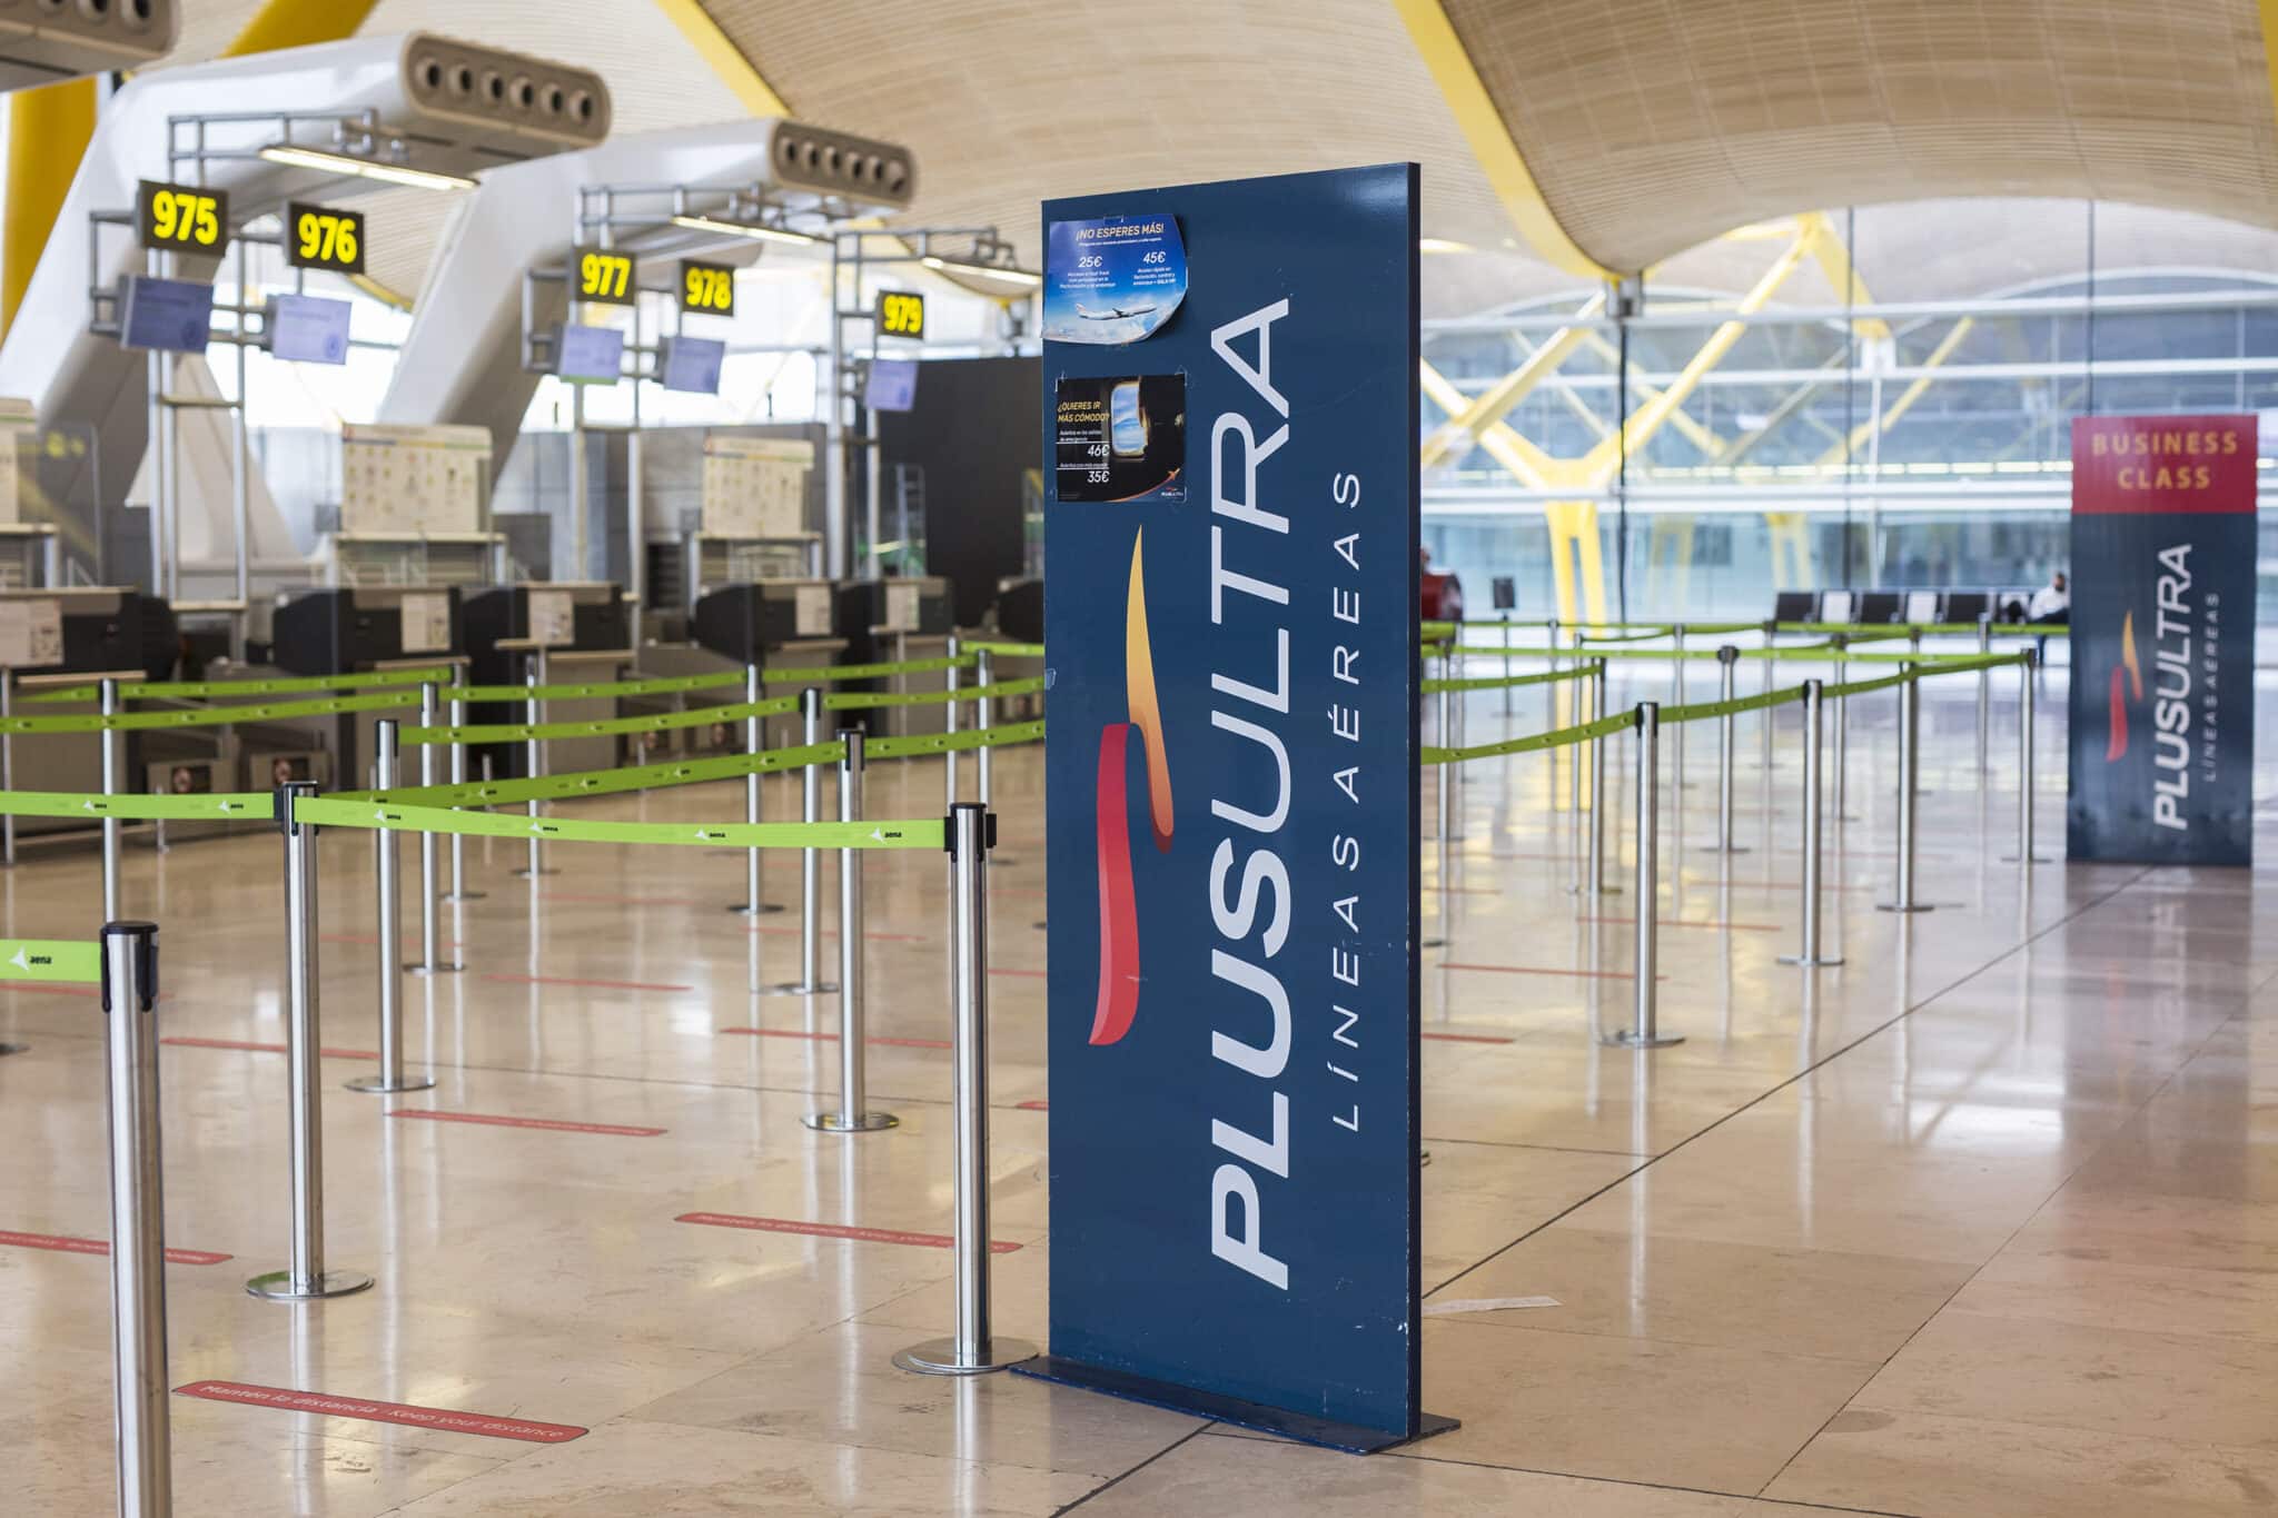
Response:
[[[312,781],[278,787],[278,822],[285,826],[285,1070],[289,1076],[287,1133],[292,1147],[292,1245],[285,1270],[246,1281],[246,1290],[269,1302],[344,1297],[371,1286],[355,1270],[323,1268],[323,1086],[319,1072],[317,1004],[317,826],[294,822],[301,797],[314,797]]]

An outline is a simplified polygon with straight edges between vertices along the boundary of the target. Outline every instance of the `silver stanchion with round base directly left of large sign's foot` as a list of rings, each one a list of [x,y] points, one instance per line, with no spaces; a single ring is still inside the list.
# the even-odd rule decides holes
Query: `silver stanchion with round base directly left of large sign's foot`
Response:
[[[989,1327],[989,833],[993,817],[959,801],[950,808],[950,1127],[957,1149],[952,1238],[957,1331],[893,1356],[920,1375],[982,1375],[1036,1354]]]

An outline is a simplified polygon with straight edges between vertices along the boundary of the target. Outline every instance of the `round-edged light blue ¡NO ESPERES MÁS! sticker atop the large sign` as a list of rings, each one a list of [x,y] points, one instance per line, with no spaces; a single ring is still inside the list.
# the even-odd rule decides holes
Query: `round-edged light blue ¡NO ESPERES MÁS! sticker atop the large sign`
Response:
[[[1185,298],[1187,244],[1166,207],[1048,223],[1046,341],[1134,344],[1160,332]]]

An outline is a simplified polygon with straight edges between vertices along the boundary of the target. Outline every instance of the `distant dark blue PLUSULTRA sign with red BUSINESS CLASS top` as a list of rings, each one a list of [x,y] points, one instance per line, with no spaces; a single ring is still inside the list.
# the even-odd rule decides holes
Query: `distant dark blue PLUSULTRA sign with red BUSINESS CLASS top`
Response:
[[[2253,416],[2073,421],[2064,853],[2253,863]]]

